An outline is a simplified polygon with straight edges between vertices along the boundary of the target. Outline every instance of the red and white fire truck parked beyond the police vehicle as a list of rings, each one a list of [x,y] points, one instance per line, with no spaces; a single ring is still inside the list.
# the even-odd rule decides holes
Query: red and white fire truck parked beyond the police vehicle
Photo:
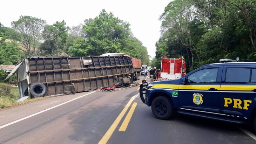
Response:
[[[163,55],[161,59],[158,80],[175,80],[186,74],[186,62],[183,56],[178,59],[168,59],[166,55]]]

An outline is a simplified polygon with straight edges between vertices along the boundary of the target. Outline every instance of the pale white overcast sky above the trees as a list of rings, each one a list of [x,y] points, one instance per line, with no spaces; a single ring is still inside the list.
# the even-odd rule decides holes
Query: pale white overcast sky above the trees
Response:
[[[160,37],[159,16],[171,0],[3,0],[0,22],[11,27],[20,15],[46,20],[50,25],[65,20],[72,27],[85,19],[95,18],[104,8],[121,20],[130,23],[133,34],[147,47],[148,54],[155,56],[155,43]]]

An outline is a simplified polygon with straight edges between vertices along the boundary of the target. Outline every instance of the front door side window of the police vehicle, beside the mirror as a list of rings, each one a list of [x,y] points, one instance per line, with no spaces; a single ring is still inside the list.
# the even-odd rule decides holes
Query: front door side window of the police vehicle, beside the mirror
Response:
[[[188,76],[188,83],[216,83],[218,68],[202,69]]]

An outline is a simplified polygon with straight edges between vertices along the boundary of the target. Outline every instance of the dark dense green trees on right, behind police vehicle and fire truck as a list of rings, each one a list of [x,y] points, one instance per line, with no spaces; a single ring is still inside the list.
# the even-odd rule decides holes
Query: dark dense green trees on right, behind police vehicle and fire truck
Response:
[[[161,56],[184,56],[189,70],[220,59],[256,60],[255,0],[174,0],[160,16]]]

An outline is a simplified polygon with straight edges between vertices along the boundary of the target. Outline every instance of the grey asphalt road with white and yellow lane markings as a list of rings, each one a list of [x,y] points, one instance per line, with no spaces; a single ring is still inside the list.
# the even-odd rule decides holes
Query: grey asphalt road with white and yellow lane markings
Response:
[[[138,92],[81,92],[1,110],[0,143],[256,143],[238,128],[251,131],[247,125],[183,115],[156,119]]]

